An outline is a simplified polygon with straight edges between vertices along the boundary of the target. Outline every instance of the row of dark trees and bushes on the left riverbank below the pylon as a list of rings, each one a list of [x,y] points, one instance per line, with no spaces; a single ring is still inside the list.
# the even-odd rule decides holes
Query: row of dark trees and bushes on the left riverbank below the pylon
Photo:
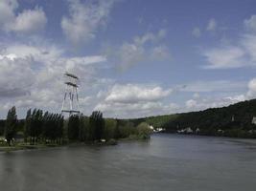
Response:
[[[104,118],[100,111],[90,117],[72,115],[64,119],[59,114],[30,109],[25,119],[18,120],[15,107],[7,119],[0,121],[0,151],[45,148],[68,142],[89,144],[116,144],[116,139],[147,139],[151,130],[147,123],[134,126],[129,120]]]

